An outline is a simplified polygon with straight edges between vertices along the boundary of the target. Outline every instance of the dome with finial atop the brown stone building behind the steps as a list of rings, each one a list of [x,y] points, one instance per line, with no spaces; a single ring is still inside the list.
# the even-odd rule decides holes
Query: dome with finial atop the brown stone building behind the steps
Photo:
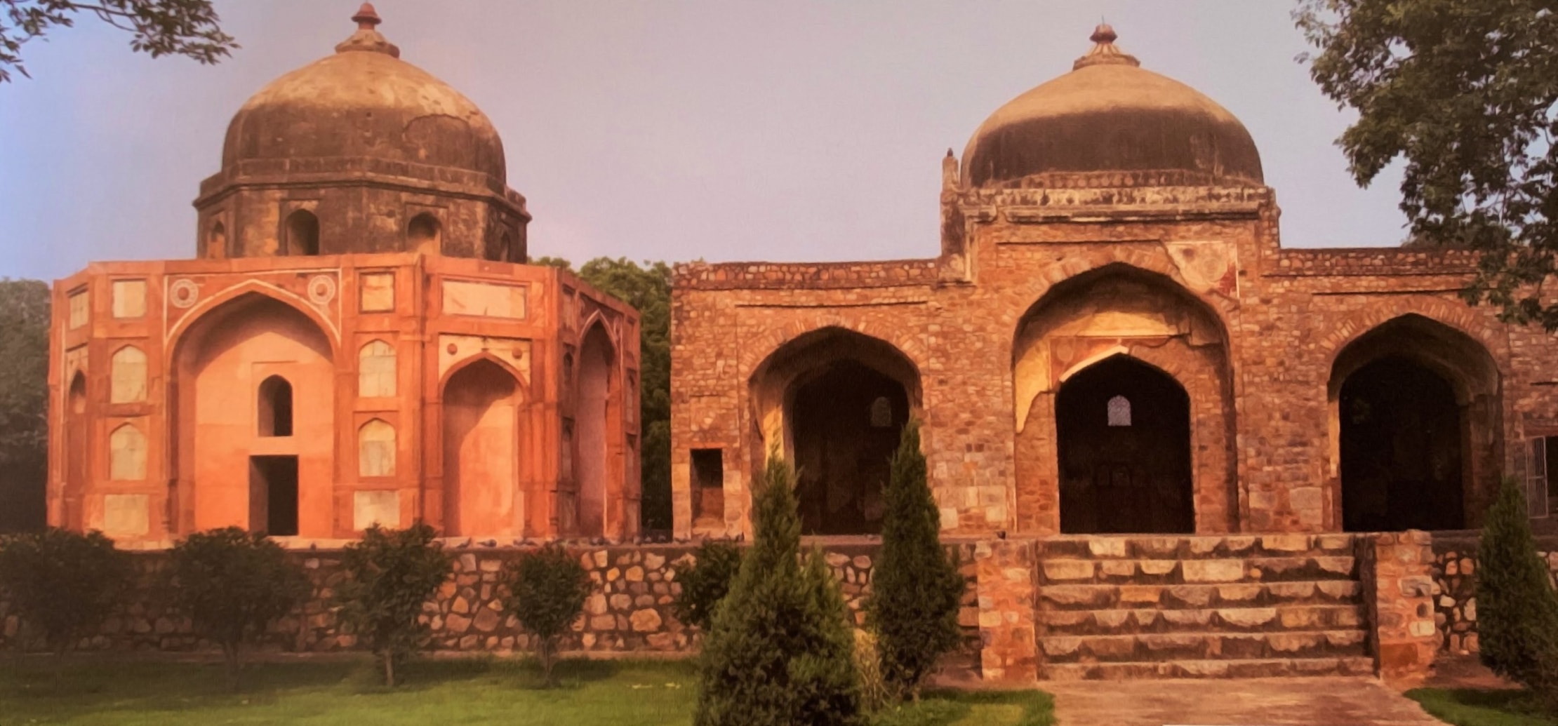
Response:
[[[1228,109],[1142,70],[1100,25],[1070,73],[1011,100],[963,153],[972,187],[1066,184],[1262,184],[1260,154]],[[1119,174],[1092,174],[1116,171]],[[1105,181],[1108,179],[1108,181]]]

